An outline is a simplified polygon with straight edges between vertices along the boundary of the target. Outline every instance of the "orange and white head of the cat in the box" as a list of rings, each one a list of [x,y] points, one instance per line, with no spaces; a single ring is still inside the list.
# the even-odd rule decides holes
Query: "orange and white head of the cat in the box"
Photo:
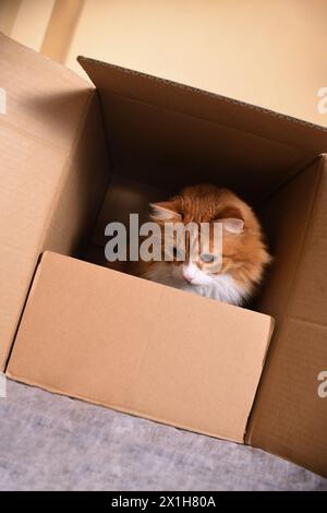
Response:
[[[150,274],[160,275],[159,281],[181,285],[181,288],[211,286],[221,276],[231,277],[244,295],[251,295],[262,279],[264,267],[270,256],[263,241],[261,225],[252,208],[227,189],[201,184],[183,189],[179,195],[150,205],[152,219],[158,223],[162,234],[167,224],[209,226],[205,251],[192,256],[192,240],[180,247],[174,238],[170,251],[171,261],[152,262]],[[215,224],[221,226],[219,251],[214,244]],[[199,241],[198,241],[199,244]],[[167,247],[165,247],[167,252]],[[160,277],[162,279],[160,279]],[[184,285],[184,287],[182,286]]]

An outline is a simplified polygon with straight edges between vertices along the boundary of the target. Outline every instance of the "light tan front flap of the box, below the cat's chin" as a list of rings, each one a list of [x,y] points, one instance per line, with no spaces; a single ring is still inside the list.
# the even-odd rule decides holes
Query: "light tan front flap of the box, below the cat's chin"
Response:
[[[243,442],[271,326],[268,315],[46,252],[7,372]]]

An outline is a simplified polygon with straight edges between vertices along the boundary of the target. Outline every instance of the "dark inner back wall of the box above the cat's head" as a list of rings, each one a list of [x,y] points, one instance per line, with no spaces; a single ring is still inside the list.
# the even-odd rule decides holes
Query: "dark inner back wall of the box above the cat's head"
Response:
[[[313,158],[282,143],[129,98],[102,94],[101,105],[114,172],[174,192],[208,181],[254,201],[302,158]]]

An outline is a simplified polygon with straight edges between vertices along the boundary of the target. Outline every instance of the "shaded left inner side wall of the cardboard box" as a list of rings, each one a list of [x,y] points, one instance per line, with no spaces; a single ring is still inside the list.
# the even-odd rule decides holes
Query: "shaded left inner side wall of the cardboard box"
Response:
[[[76,255],[92,238],[111,179],[97,96],[92,99],[76,147],[65,165],[41,251]]]

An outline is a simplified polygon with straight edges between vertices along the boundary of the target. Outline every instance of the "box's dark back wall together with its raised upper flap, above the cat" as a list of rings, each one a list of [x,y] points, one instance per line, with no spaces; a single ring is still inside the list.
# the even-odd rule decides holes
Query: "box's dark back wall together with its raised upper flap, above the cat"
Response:
[[[327,150],[327,128],[93,59],[78,60],[100,92],[116,174],[137,174],[141,181],[178,189],[197,181],[201,169],[204,181],[253,201]]]

